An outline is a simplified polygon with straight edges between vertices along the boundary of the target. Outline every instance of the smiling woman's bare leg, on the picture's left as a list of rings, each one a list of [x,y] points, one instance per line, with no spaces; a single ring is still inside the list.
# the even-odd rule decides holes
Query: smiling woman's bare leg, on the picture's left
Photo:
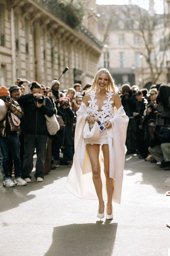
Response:
[[[93,173],[93,183],[96,190],[96,194],[99,198],[99,214],[104,212],[104,201],[102,196],[102,182],[100,176],[100,163],[99,163],[99,152],[100,145],[99,144],[87,144],[87,151],[90,158],[90,163],[92,167]]]

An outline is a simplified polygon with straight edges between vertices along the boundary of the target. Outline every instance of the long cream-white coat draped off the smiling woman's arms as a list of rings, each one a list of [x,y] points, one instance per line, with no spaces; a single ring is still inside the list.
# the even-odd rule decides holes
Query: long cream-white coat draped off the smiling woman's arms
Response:
[[[77,114],[77,123],[75,129],[75,153],[73,165],[67,178],[66,188],[75,196],[83,199],[98,199],[93,184],[91,163],[84,139],[82,138],[82,130],[86,124],[87,106],[82,102]],[[125,159],[125,141],[126,131],[129,118],[121,106],[113,118],[109,120],[112,127],[107,129],[109,143],[109,176],[114,179],[114,190],[112,200],[121,203],[123,169]],[[103,199],[107,200],[107,192],[105,186],[105,175],[103,165],[103,154],[100,147],[100,167],[101,180],[103,184]]]

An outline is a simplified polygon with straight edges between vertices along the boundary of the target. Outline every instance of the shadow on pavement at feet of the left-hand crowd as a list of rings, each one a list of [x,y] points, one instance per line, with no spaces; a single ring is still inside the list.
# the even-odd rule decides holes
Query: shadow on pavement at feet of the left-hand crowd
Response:
[[[64,170],[65,169],[65,170]],[[8,211],[12,208],[18,207],[20,203],[27,202],[35,195],[29,194],[31,191],[42,189],[48,184],[52,184],[53,181],[68,176],[70,168],[66,169],[66,166],[62,166],[59,169],[51,171],[48,175],[44,176],[43,182],[36,182],[34,178],[35,172],[31,173],[32,182],[27,186],[12,188],[4,188],[0,186],[0,212]],[[0,176],[0,184],[3,184],[3,178]],[[29,195],[28,195],[29,194]]]

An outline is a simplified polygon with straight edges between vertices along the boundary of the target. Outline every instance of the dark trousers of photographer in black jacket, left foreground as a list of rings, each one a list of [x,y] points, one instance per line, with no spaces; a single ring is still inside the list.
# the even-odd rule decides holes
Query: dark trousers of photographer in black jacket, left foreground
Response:
[[[33,169],[33,156],[36,148],[37,162],[35,177],[44,178],[44,160],[46,157],[48,135],[25,134],[24,140],[24,162],[22,178],[30,178]]]

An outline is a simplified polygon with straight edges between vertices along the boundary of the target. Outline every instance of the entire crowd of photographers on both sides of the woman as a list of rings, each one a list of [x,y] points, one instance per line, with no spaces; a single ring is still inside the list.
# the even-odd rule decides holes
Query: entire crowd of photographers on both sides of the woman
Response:
[[[60,164],[72,166],[75,115],[90,86],[86,84],[82,90],[81,84],[74,84],[60,91],[56,79],[51,87],[46,87],[19,78],[9,90],[0,87],[0,165],[4,187],[31,182],[35,153],[37,182]],[[30,92],[26,93],[28,89]],[[124,84],[120,96],[129,117],[127,154],[137,153],[140,159],[170,170],[170,86],[152,85],[148,91]],[[46,117],[53,115],[60,130],[49,135]]]

